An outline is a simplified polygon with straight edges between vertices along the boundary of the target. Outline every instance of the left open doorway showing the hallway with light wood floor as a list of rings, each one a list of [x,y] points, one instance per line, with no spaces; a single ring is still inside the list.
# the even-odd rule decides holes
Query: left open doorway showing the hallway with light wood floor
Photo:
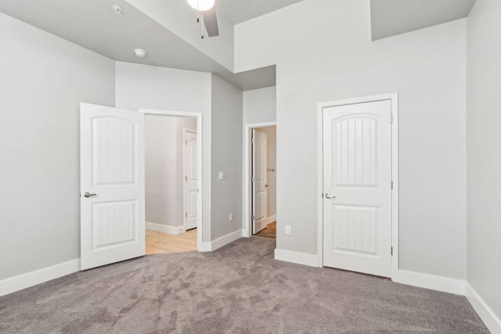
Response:
[[[196,250],[196,118],[145,115],[146,254]]]

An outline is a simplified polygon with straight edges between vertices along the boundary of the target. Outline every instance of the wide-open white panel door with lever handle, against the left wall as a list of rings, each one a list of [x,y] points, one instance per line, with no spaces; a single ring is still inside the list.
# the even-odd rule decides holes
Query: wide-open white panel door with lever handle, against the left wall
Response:
[[[144,114],[80,104],[81,269],[145,254]]]

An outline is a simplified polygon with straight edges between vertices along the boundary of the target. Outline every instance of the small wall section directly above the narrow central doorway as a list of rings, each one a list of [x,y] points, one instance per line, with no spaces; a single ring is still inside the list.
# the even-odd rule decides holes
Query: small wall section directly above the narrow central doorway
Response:
[[[243,124],[277,120],[277,87],[243,92]]]

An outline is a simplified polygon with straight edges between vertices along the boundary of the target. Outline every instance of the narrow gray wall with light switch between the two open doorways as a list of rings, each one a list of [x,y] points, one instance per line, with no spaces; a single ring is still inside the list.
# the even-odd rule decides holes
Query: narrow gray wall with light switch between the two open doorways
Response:
[[[212,240],[242,228],[242,108],[242,91],[212,75]]]

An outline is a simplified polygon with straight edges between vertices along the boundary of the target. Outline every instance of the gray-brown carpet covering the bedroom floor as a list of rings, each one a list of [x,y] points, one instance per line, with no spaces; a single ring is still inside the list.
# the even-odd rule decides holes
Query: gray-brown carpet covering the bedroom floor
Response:
[[[488,332],[464,296],[273,259],[275,240],[155,254],[0,297],[0,332]]]

